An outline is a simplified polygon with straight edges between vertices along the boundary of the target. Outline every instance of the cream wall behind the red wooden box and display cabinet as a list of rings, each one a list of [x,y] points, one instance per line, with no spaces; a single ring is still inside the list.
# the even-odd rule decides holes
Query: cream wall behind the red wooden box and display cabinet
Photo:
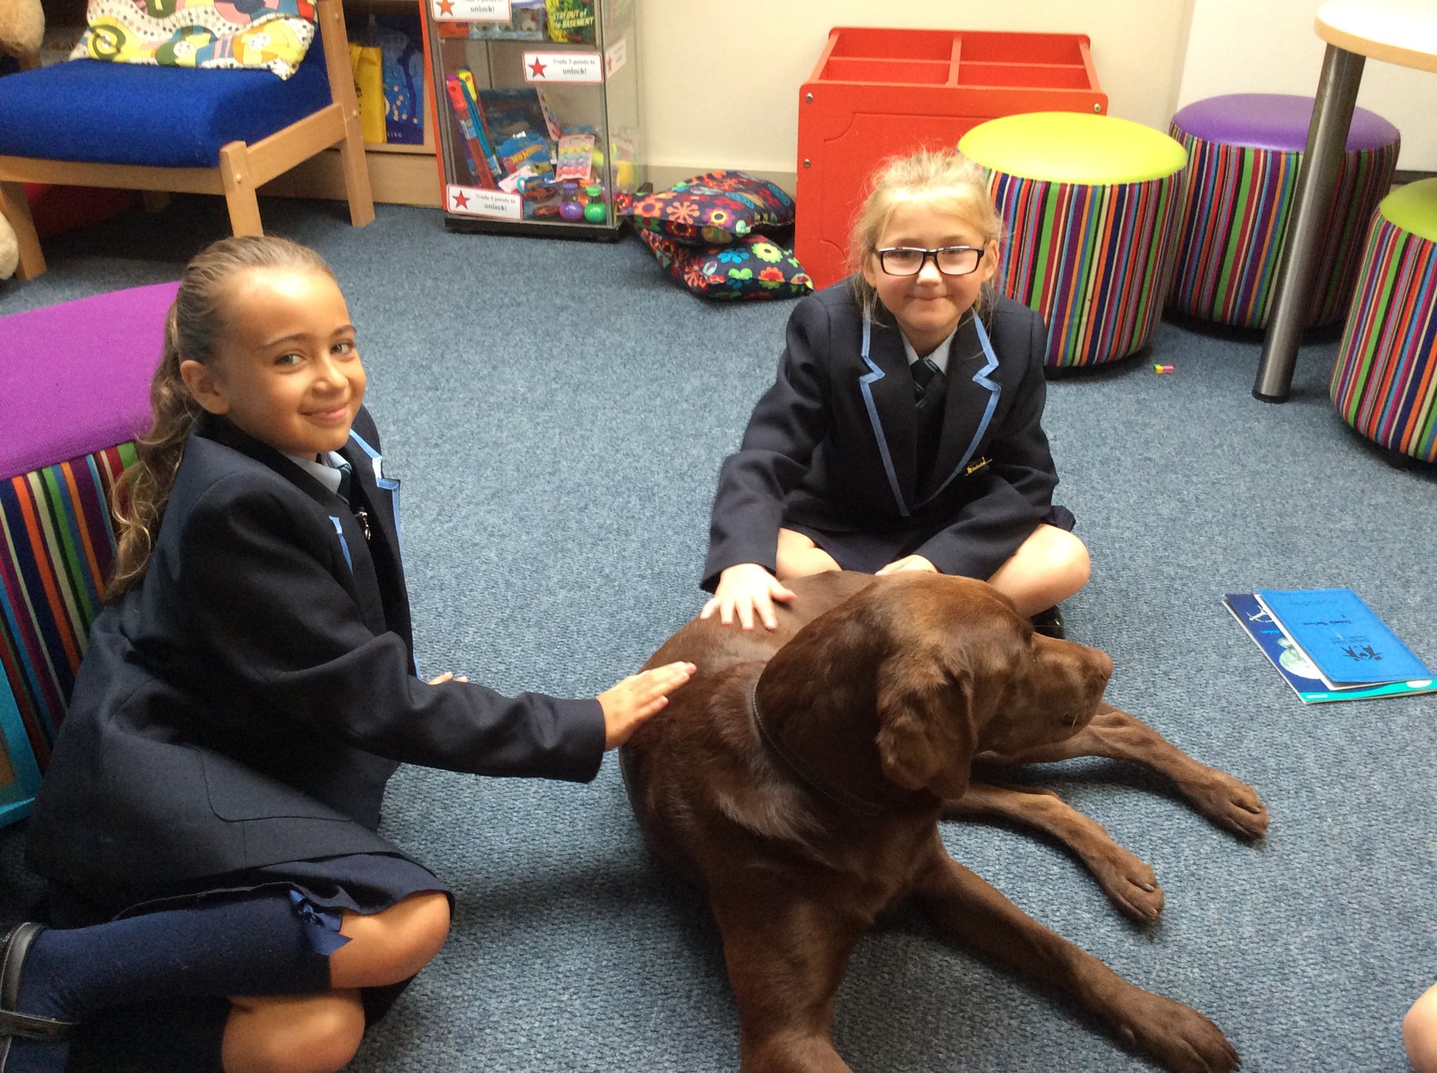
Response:
[[[799,86],[835,26],[1085,33],[1109,115],[1165,129],[1193,3],[638,0],[650,178],[665,187],[727,167],[792,191]]]

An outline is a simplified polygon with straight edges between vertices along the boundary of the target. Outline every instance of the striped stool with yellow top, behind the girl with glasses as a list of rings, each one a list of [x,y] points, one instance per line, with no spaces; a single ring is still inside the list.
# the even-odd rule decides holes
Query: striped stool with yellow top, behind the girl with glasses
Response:
[[[958,149],[983,165],[1009,231],[1004,293],[1048,322],[1046,363],[1141,349],[1168,287],[1183,147],[1127,119],[1029,112],[974,126]]]

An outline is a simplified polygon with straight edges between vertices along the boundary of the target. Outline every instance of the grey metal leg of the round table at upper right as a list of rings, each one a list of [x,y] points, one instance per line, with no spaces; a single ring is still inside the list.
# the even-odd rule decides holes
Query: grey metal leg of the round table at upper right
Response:
[[[1352,125],[1364,62],[1364,56],[1335,45],[1328,46],[1328,55],[1322,60],[1322,79],[1318,82],[1318,99],[1308,128],[1308,148],[1298,172],[1292,223],[1283,243],[1262,362],[1253,384],[1253,398],[1263,402],[1283,402],[1292,391],[1292,366],[1302,345],[1312,279],[1318,267],[1318,247],[1332,226],[1328,207],[1332,204],[1338,167]]]

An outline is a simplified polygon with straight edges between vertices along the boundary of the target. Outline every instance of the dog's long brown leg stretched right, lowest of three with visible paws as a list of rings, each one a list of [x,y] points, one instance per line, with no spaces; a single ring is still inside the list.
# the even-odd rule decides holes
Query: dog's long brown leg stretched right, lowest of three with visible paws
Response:
[[[1068,993],[1121,1040],[1174,1073],[1226,1073],[1237,1067],[1237,1051],[1207,1017],[1129,984],[947,853],[934,850],[912,895],[950,939]]]

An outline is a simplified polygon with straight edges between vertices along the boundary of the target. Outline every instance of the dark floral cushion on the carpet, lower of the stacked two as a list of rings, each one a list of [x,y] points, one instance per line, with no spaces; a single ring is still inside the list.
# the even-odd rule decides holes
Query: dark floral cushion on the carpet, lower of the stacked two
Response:
[[[729,246],[684,246],[644,228],[638,237],[670,276],[703,297],[783,299],[813,290],[793,254],[762,234]]]

